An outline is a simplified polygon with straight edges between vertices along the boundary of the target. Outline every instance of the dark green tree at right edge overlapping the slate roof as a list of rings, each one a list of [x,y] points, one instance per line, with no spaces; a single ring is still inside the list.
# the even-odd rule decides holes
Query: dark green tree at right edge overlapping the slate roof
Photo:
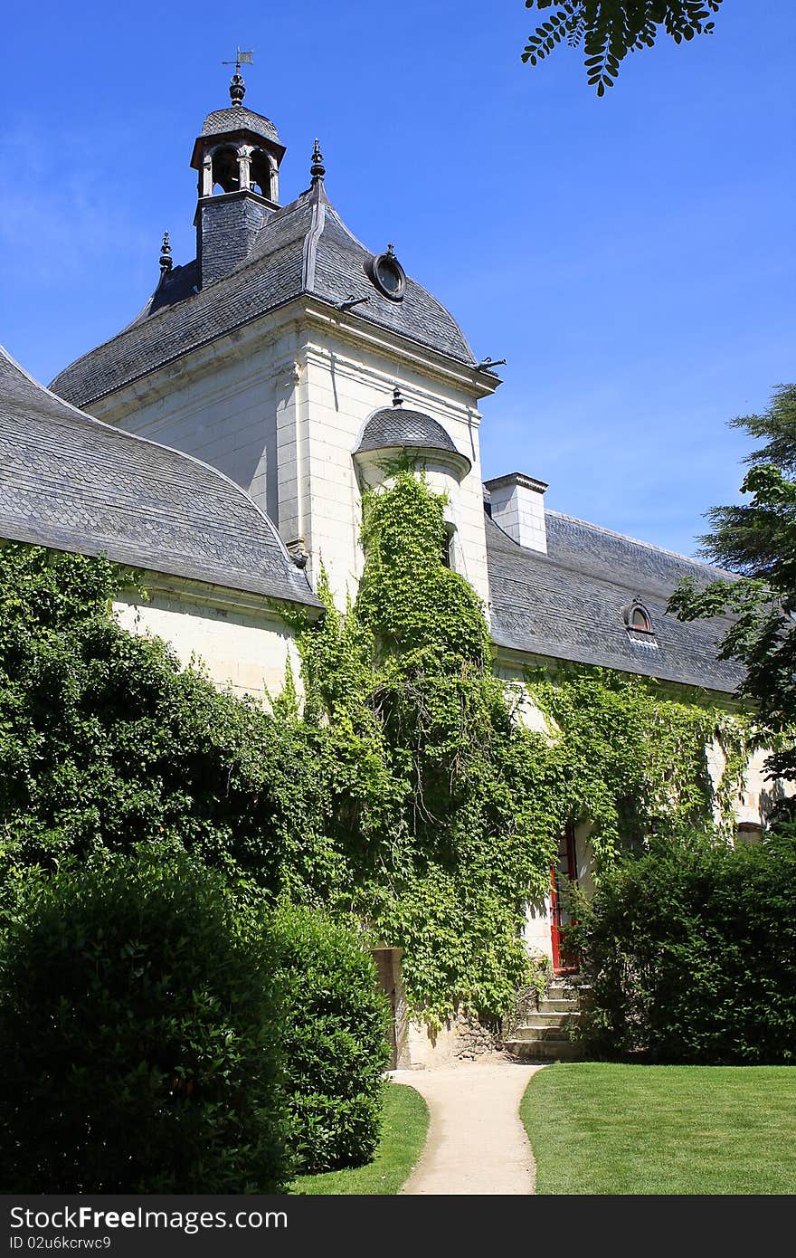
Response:
[[[683,620],[732,615],[721,658],[744,668],[741,694],[773,733],[772,775],[796,779],[796,385],[781,385],[762,415],[731,426],[763,439],[747,459],[741,506],[714,507],[704,555],[746,580],[699,589],[684,581],[670,600]]]

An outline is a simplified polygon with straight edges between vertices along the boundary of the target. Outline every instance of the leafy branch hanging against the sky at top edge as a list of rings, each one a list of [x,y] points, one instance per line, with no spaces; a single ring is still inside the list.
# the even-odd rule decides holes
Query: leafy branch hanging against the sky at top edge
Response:
[[[526,0],[539,14],[553,9],[528,38],[523,62],[537,65],[558,44],[583,47],[586,77],[604,96],[627,53],[653,48],[660,29],[675,44],[709,35],[722,0]]]

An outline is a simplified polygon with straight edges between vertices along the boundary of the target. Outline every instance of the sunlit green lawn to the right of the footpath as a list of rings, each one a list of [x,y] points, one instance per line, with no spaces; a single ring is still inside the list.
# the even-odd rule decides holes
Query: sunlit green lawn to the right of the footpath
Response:
[[[561,1063],[521,1106],[537,1193],[796,1193],[796,1067]]]

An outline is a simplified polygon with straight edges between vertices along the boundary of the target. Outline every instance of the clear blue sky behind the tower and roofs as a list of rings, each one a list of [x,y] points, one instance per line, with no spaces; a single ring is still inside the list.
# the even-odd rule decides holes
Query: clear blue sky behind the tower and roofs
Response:
[[[726,0],[712,38],[630,57],[597,99],[580,58],[521,63],[522,0],[141,0],[6,14],[0,341],[39,379],[113,336],[194,257],[194,137],[255,49],[246,104],[288,152],[282,199],[327,191],[389,240],[479,356],[484,476],[692,554],[737,498],[744,437],[793,360],[792,0]],[[763,26],[761,14],[767,23]]]

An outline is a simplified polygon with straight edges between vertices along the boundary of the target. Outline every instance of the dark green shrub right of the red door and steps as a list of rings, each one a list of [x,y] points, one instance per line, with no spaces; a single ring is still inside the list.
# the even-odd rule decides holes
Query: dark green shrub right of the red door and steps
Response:
[[[577,907],[595,1055],[796,1062],[796,844],[700,838],[627,860]]]

